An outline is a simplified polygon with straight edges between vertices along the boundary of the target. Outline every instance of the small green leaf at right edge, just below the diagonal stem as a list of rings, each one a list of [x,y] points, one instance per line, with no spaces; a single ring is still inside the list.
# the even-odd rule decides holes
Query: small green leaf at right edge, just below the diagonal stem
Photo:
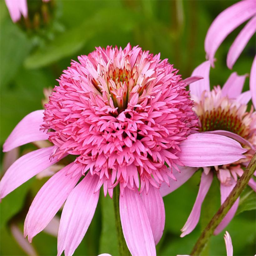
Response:
[[[256,209],[256,194],[254,190],[247,187],[240,196],[239,206],[236,215],[244,211]]]

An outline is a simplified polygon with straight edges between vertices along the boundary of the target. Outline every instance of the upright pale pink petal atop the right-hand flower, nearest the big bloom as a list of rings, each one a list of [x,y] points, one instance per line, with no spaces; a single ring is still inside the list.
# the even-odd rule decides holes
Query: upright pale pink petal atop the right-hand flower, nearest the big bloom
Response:
[[[197,66],[194,71],[192,72],[191,76],[202,76],[203,79],[194,82],[192,85],[189,86],[190,95],[195,95],[197,97],[201,97],[203,91],[210,91],[210,62],[205,61],[199,66]]]

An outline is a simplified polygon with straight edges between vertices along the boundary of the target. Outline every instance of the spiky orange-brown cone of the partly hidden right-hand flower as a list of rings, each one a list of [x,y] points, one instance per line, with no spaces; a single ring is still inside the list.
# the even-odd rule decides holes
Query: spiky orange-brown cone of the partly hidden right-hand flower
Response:
[[[236,107],[225,110],[219,106],[204,111],[198,117],[201,123],[200,131],[226,130],[243,138],[249,135],[249,127],[239,118]]]

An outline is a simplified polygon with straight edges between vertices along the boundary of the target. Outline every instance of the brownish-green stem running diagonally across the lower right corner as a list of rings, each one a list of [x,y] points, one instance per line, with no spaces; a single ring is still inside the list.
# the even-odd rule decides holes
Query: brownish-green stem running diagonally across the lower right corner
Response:
[[[222,219],[225,217],[225,215],[228,213],[229,209],[232,207],[232,205],[234,204],[236,199],[239,197],[239,195],[242,193],[245,186],[248,184],[250,178],[254,174],[255,169],[256,169],[256,154],[250,161],[248,167],[244,171],[244,174],[237,181],[237,184],[235,185],[234,189],[231,191],[227,199],[220,206],[217,213],[213,216],[213,218],[210,220],[210,222],[208,223],[208,225],[200,235],[190,255],[200,255],[202,253],[204,246],[207,244],[214,230],[222,221]]]

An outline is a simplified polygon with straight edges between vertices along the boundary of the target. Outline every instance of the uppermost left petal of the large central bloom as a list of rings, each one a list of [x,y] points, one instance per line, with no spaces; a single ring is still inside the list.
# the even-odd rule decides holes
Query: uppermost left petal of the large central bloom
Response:
[[[3,144],[3,152],[36,140],[47,140],[49,135],[40,130],[43,123],[43,110],[31,112],[25,116]]]

